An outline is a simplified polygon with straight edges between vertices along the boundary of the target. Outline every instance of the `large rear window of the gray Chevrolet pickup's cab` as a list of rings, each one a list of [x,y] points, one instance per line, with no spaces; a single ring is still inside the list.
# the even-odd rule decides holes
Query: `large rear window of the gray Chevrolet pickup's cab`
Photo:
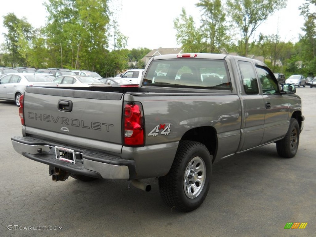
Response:
[[[149,65],[143,86],[231,90],[227,64],[216,59],[164,59]]]

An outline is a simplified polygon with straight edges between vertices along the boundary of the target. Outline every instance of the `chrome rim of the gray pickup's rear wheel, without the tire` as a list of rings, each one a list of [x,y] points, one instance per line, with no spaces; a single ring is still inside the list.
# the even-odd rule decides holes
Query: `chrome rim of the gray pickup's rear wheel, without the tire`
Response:
[[[185,168],[183,188],[185,195],[196,198],[203,190],[206,177],[206,166],[201,157],[194,157]]]

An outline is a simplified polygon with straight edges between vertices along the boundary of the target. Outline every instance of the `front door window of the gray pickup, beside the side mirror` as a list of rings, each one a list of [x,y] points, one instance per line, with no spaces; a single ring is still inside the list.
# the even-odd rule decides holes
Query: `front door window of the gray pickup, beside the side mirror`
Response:
[[[263,94],[277,94],[279,93],[278,83],[273,80],[272,72],[270,70],[257,66],[257,72],[260,79],[261,89]]]

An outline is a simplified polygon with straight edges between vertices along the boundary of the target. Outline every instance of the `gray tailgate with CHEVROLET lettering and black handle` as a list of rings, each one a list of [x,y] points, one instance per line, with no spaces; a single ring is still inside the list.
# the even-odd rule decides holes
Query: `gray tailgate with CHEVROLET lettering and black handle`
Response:
[[[122,144],[123,93],[27,87],[26,127]],[[45,135],[45,134],[43,134]]]

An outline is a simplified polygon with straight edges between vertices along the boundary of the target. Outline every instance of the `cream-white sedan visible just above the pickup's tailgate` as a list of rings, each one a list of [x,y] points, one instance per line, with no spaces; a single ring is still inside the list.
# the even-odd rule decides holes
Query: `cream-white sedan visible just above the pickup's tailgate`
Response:
[[[97,86],[110,86],[109,84],[100,82],[92,76],[58,76],[54,82],[59,87],[97,87]]]

